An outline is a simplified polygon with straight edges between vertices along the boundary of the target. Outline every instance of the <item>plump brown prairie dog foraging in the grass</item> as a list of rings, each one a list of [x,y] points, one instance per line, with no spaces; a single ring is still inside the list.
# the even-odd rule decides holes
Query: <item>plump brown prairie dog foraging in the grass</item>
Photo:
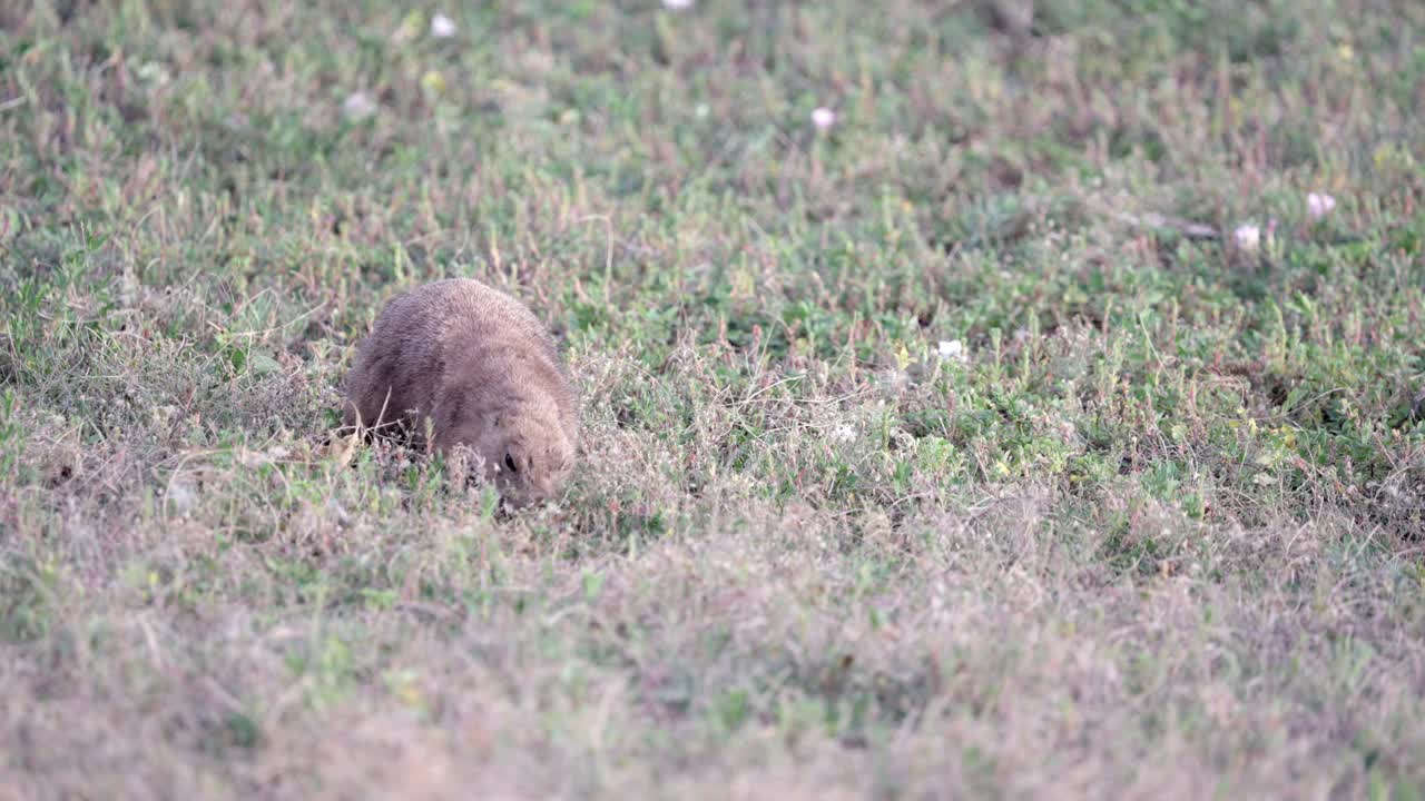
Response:
[[[516,506],[559,492],[574,465],[573,392],[553,338],[514,298],[453,278],[390,301],[346,381],[346,425],[396,428],[483,460]]]

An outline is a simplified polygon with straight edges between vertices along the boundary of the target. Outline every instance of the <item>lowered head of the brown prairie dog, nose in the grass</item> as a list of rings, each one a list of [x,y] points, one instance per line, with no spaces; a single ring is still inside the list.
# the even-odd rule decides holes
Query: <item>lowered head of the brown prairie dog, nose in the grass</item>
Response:
[[[574,443],[553,405],[523,403],[489,418],[487,425],[457,426],[449,445],[479,455],[482,476],[514,507],[550,500],[574,467]]]

